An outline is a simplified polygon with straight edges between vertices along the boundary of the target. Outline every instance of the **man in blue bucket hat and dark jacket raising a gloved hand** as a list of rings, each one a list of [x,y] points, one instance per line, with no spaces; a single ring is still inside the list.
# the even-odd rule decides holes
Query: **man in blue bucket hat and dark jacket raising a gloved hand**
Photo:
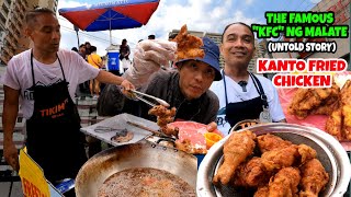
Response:
[[[124,77],[136,86],[141,86],[143,92],[165,100],[170,107],[176,107],[176,120],[211,124],[215,121],[219,106],[217,96],[208,90],[213,81],[222,79],[219,48],[208,37],[203,37],[202,42],[203,58],[179,59],[176,63],[177,69],[160,69],[160,65],[169,65],[169,60],[172,60],[170,54],[176,50],[176,47],[172,48],[174,43],[143,40],[136,48],[132,69],[128,69]],[[140,72],[144,73],[139,74]],[[146,83],[137,84],[140,81]],[[113,116],[122,112],[132,112],[134,115],[156,120],[155,116],[148,115],[150,106],[141,102],[131,102],[134,101],[122,99],[116,88],[110,85],[99,97],[98,113],[102,116]],[[134,107],[136,105],[137,109]],[[131,109],[133,107],[134,112]]]

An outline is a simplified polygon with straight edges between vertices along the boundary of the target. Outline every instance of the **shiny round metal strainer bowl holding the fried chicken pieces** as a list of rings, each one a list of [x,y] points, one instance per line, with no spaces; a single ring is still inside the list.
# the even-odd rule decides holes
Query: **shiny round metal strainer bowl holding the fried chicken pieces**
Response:
[[[293,124],[265,124],[248,128],[256,135],[273,134],[295,144],[305,143],[317,151],[317,158],[325,166],[330,178],[320,196],[342,196],[351,177],[351,165],[342,146],[330,135],[312,127]],[[242,131],[238,130],[238,131]],[[223,162],[223,146],[229,138],[214,144],[202,161],[197,173],[196,194],[201,197],[212,196],[250,196],[247,189],[233,186],[215,186],[212,178]]]

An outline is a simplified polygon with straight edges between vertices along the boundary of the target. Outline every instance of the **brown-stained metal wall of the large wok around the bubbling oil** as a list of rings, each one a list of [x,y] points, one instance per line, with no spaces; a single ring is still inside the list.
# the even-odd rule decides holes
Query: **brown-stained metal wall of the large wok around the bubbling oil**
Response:
[[[100,186],[111,175],[133,167],[152,167],[172,173],[195,189],[196,158],[173,148],[148,141],[107,149],[89,159],[76,178],[78,197],[97,197]]]

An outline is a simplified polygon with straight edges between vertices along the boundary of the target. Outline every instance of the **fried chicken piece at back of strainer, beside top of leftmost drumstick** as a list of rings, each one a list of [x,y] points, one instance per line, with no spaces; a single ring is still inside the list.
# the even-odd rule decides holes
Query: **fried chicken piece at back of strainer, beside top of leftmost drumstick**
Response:
[[[262,153],[275,149],[283,149],[293,144],[291,141],[283,140],[282,138],[271,134],[257,137],[257,143]]]

